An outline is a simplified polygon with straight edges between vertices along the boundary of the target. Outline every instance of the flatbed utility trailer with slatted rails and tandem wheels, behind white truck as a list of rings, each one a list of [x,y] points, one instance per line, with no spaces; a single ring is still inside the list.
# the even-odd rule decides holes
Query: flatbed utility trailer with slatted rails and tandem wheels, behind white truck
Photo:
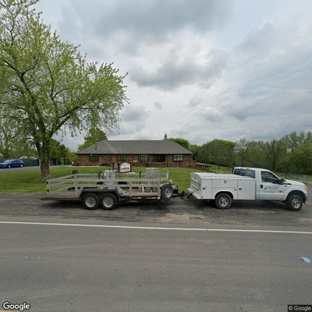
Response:
[[[41,200],[82,201],[86,209],[112,210],[118,202],[170,200],[177,195],[177,186],[169,180],[169,171],[146,168],[145,173],[122,173],[105,170],[98,174],[74,173],[47,180],[47,195]]]

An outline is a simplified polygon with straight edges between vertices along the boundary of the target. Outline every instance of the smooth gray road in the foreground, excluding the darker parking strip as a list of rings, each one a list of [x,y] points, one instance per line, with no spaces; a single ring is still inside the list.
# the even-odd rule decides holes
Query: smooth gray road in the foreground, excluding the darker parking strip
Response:
[[[312,231],[69,223],[80,226],[0,224],[2,302],[26,302],[34,312],[286,312],[288,304],[312,303],[312,266],[300,259],[312,256]]]

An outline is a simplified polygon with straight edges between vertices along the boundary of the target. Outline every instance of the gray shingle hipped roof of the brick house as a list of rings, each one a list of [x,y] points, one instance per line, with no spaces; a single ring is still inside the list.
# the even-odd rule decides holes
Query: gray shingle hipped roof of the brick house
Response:
[[[183,146],[168,138],[162,140],[104,140],[78,151],[77,154],[192,154]]]

